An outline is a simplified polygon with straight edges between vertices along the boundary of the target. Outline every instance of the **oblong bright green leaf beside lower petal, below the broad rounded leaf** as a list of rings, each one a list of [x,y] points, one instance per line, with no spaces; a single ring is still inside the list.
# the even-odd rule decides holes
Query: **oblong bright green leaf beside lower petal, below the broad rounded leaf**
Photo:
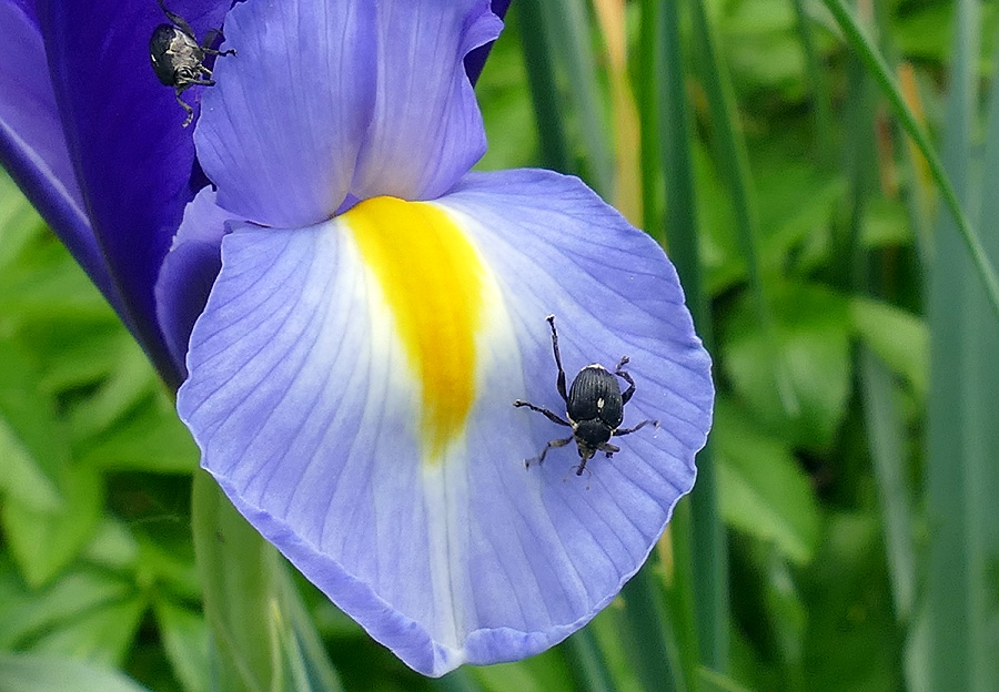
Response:
[[[729,526],[773,542],[793,562],[810,561],[819,541],[818,503],[787,444],[760,431],[725,398],[715,404],[712,437]]]

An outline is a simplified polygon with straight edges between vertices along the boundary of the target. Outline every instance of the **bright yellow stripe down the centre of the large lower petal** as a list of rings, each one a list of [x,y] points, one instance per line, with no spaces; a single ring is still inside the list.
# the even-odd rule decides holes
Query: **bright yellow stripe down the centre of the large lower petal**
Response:
[[[341,220],[377,278],[422,388],[422,432],[438,460],[462,431],[475,397],[475,334],[483,266],[440,207],[374,197]]]

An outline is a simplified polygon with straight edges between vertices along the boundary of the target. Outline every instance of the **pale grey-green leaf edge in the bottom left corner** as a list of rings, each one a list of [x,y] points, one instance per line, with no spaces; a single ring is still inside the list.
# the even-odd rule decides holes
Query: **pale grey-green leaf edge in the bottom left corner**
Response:
[[[117,671],[62,658],[0,653],[4,692],[149,692]]]

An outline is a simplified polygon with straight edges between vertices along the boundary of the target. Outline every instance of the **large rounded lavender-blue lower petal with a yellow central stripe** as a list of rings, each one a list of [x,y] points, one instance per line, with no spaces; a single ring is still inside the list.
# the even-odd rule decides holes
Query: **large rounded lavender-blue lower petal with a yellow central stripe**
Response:
[[[629,355],[625,425],[662,423],[588,478],[571,447],[524,468],[567,431],[513,406],[564,411],[549,313],[569,377]],[[236,227],[188,366],[178,409],[202,465],[432,675],[542,651],[606,606],[693,485],[713,400],[662,251],[577,180],[533,171]]]

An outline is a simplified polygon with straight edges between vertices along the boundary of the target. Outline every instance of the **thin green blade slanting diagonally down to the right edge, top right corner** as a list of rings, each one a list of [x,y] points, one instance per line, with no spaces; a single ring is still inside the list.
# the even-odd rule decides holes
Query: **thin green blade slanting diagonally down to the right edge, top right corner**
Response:
[[[953,217],[956,224],[956,230],[971,258],[975,272],[985,285],[989,304],[996,315],[999,316],[999,275],[996,274],[996,268],[986,255],[985,248],[981,245],[981,241],[979,240],[971,221],[961,207],[960,197],[953,184],[951,184],[940,157],[937,156],[936,151],[930,144],[929,136],[919,125],[912,111],[906,105],[901,90],[896,83],[884,58],[878,52],[877,47],[864,34],[857,20],[847,9],[842,0],[823,0],[823,2],[836,19],[847,43],[864,61],[864,64],[867,65],[867,69],[878,82],[881,92],[888,99],[891,112],[926,157],[934,181],[937,183],[937,187],[944,196],[944,203],[950,211],[950,215]]]

